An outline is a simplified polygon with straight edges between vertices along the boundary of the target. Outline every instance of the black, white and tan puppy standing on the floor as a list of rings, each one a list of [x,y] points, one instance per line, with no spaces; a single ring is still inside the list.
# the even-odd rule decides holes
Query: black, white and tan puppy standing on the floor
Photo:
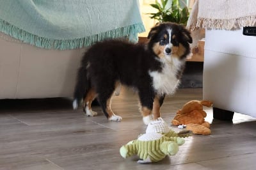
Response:
[[[138,91],[146,125],[159,118],[165,95],[173,94],[179,85],[192,38],[183,26],[166,22],[152,27],[148,39],[147,45],[122,40],[92,45],[77,73],[74,109],[83,98],[86,115],[96,116],[91,104],[97,98],[108,120],[122,120],[111,110],[111,97],[123,84]]]

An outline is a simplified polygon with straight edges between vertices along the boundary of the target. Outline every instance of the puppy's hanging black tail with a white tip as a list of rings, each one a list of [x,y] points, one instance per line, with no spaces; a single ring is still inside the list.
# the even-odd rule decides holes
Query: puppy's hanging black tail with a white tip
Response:
[[[90,86],[90,81],[88,80],[87,70],[84,66],[81,66],[77,72],[76,87],[74,90],[74,100],[73,109],[77,109],[79,103],[84,97],[86,90]]]

